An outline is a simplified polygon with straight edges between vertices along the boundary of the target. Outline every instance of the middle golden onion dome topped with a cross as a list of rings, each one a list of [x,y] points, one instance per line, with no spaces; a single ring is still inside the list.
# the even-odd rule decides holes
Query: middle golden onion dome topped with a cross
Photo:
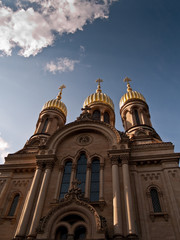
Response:
[[[104,103],[106,105],[109,105],[114,110],[114,103],[111,100],[111,98],[107,96],[105,93],[102,93],[100,82],[103,82],[103,80],[99,78],[96,80],[96,82],[98,82],[96,93],[93,93],[86,98],[83,104],[83,108],[86,105],[89,106],[93,103]]]

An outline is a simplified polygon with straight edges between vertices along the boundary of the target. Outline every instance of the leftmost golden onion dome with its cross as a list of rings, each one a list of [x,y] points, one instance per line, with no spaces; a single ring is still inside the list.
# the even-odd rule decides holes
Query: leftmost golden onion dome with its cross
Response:
[[[59,111],[61,111],[62,113],[64,113],[65,116],[67,116],[67,108],[66,105],[61,101],[61,95],[62,95],[62,89],[65,88],[64,85],[62,85],[59,89],[60,92],[58,94],[58,96],[56,97],[56,99],[52,99],[48,102],[46,102],[42,108],[42,110],[45,109],[57,109]]]

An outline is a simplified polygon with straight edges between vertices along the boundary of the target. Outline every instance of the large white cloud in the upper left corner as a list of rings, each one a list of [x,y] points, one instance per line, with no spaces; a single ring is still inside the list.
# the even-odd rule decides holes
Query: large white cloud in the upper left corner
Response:
[[[58,34],[83,30],[87,22],[108,18],[109,6],[116,0],[19,0],[17,10],[0,0],[0,51],[11,55],[35,56],[54,42]]]

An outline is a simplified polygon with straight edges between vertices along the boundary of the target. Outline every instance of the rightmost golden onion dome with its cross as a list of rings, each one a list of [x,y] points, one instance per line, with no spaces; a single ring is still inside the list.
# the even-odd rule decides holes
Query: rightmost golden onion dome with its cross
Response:
[[[122,106],[129,100],[141,100],[146,103],[146,99],[141,93],[132,90],[129,81],[131,81],[131,79],[127,77],[124,79],[124,82],[127,82],[127,93],[125,93],[120,99],[120,108],[122,108]]]

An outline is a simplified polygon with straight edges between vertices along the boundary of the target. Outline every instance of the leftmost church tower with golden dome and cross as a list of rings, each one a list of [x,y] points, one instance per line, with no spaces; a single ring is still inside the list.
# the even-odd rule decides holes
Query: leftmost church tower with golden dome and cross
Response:
[[[46,102],[39,114],[39,119],[36,124],[35,134],[52,135],[56,130],[62,128],[66,123],[67,108],[61,101],[62,90],[65,88],[62,85],[56,99]]]

